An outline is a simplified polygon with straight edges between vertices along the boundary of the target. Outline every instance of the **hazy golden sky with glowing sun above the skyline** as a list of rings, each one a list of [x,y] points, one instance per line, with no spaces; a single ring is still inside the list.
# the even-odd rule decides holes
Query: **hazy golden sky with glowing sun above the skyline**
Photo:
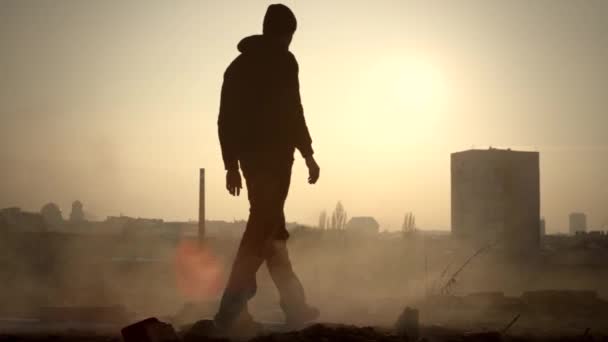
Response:
[[[236,44],[269,1],[0,0],[0,207],[103,218],[247,216],[217,138]],[[286,1],[321,179],[296,161],[289,221],[448,229],[449,154],[541,154],[549,232],[608,223],[608,1]]]

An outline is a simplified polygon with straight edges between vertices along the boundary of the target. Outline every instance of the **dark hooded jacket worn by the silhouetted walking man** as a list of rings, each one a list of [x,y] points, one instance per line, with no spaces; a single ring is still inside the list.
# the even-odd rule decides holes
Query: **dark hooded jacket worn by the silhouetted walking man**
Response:
[[[238,161],[289,162],[313,154],[300,99],[298,63],[274,40],[255,35],[224,73],[218,132],[226,170]]]

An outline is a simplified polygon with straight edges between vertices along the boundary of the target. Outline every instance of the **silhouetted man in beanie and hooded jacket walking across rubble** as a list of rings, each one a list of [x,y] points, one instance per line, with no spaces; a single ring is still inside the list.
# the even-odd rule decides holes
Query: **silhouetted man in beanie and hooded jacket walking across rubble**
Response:
[[[298,63],[289,51],[296,26],[289,8],[270,5],[263,35],[244,38],[238,44],[241,54],[224,74],[218,128],[226,188],[231,195],[240,194],[240,165],[250,204],[247,228],[215,316],[216,325],[225,329],[253,322],[247,301],[255,295],[256,272],[264,262],[288,324],[319,315],[306,303],[291,267],[283,213],[295,149],[306,160],[308,182],[319,178],[300,102]]]

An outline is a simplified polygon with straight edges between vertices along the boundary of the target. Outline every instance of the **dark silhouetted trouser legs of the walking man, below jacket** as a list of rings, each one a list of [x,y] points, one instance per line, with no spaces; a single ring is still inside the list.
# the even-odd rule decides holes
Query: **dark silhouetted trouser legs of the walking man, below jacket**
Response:
[[[257,290],[256,273],[265,262],[281,299],[286,315],[306,305],[304,289],[291,266],[286,241],[283,207],[289,192],[293,161],[259,165],[241,161],[247,184],[249,220],[236,258],[216,322],[230,326],[247,314],[249,299]]]

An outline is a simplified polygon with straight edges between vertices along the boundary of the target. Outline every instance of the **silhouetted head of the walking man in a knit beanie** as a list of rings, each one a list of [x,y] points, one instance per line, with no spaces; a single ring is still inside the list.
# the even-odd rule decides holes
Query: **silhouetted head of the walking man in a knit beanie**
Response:
[[[268,6],[266,15],[264,15],[263,32],[265,36],[276,39],[285,48],[288,48],[297,27],[296,16],[289,7],[282,4]]]

